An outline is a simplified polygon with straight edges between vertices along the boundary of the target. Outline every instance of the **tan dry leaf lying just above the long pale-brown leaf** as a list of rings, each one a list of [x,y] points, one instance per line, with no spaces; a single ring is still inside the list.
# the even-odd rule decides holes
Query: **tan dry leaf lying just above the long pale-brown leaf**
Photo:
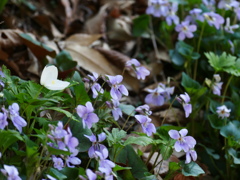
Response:
[[[66,39],[66,44],[76,43],[80,46],[90,46],[94,41],[102,37],[101,34],[74,34]]]

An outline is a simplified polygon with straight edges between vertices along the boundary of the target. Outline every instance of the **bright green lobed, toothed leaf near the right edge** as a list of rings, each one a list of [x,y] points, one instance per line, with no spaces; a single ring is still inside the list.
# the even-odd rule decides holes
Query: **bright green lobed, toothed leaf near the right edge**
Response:
[[[216,71],[224,71],[225,68],[229,68],[235,65],[236,57],[226,52],[223,52],[220,56],[213,52],[205,53],[208,58],[208,62]]]

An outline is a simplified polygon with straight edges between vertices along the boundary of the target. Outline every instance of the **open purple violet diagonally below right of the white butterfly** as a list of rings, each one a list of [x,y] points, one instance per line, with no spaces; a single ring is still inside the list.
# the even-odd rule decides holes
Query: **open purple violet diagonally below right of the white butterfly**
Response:
[[[91,102],[87,102],[86,106],[78,105],[77,114],[80,118],[82,118],[83,128],[87,125],[90,129],[92,125],[99,121],[98,116],[93,113],[94,109]]]

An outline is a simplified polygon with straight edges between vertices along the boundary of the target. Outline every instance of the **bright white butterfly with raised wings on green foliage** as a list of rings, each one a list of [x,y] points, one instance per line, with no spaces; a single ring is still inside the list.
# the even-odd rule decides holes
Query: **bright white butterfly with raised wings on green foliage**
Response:
[[[63,90],[70,84],[67,81],[58,80],[57,77],[58,69],[56,66],[45,66],[42,71],[40,84],[50,90]]]

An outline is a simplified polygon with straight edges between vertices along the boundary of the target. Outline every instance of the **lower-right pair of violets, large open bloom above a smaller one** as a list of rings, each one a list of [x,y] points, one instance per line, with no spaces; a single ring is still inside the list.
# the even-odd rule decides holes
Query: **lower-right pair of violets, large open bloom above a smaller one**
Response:
[[[177,152],[184,151],[186,153],[185,163],[190,163],[191,159],[193,161],[197,160],[197,153],[194,150],[196,145],[196,140],[192,136],[186,136],[188,133],[187,129],[182,129],[180,131],[170,130],[168,132],[169,136],[176,140],[174,144],[174,149]]]

